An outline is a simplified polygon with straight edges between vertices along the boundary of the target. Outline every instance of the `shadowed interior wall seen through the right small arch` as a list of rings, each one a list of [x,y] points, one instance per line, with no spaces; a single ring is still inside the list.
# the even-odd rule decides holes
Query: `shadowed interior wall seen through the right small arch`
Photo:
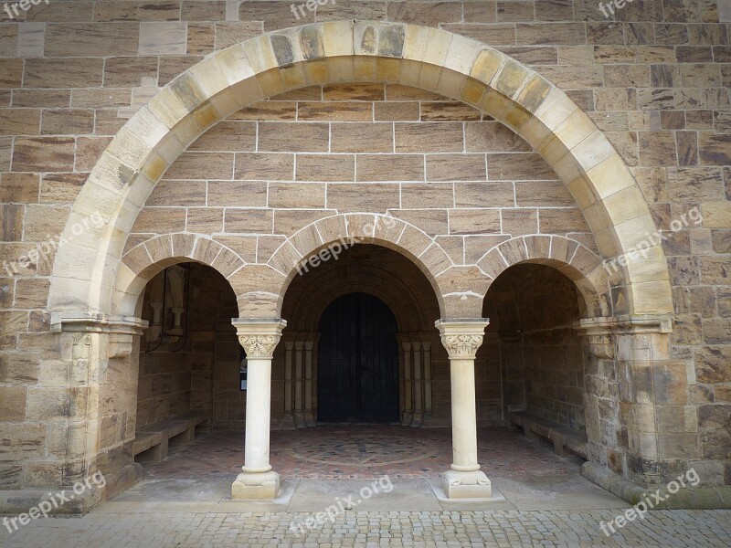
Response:
[[[573,329],[581,296],[570,279],[542,265],[516,265],[485,298],[503,368],[503,406],[585,429],[586,341]],[[583,303],[581,304],[583,306]],[[498,370],[499,371],[499,370]]]

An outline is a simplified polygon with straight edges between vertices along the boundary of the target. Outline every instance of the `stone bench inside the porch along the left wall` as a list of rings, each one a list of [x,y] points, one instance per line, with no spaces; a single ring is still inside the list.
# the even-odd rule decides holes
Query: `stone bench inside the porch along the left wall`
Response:
[[[196,437],[196,427],[207,421],[202,411],[187,411],[137,430],[132,454],[137,462],[160,462],[171,445],[186,445]]]

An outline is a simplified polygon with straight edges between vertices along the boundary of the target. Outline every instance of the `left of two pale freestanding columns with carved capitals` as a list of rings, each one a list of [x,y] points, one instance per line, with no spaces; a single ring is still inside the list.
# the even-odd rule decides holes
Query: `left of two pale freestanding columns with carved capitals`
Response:
[[[238,331],[249,366],[244,466],[231,488],[231,497],[274,499],[280,490],[280,476],[269,463],[271,359],[287,322],[279,318],[231,322]]]

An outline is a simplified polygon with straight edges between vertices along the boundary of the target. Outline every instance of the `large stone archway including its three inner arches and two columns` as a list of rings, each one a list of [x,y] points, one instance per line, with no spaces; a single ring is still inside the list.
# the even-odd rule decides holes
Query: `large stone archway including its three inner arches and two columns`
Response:
[[[432,90],[503,122],[540,152],[566,184],[600,256],[567,237],[526,236],[486,249],[477,264],[457,264],[435,237],[373,212],[323,218],[288,237],[270,256],[257,255],[249,262],[211,238],[186,232],[154,237],[125,254],[132,226],[155,184],[217,121],[287,90],[353,81]],[[140,325],[132,325],[127,316],[134,313],[144,280],[165,261],[190,258],[210,264],[235,291],[239,318],[234,324],[249,356],[252,395],[246,402],[246,464],[234,484],[234,496],[241,498],[270,498],[279,489],[269,464],[269,425],[271,362],[286,326],[283,295],[302,261],[343,238],[397,250],[418,266],[439,301],[437,327],[449,353],[452,391],[454,463],[445,475],[450,496],[490,493],[476,454],[473,369],[487,323],[482,298],[503,269],[523,261],[559,266],[587,297],[589,318],[629,317],[629,323],[623,320],[628,339],[641,333],[638,318],[655,321],[673,308],[660,246],[626,255],[620,280],[611,288],[603,275],[601,258],[624,258],[655,226],[620,155],[588,116],[563,91],[514,59],[469,38],[421,26],[336,21],[269,33],[217,52],[185,71],[125,124],[82,188],[67,232],[91,213],[104,219],[103,226],[59,248],[48,298],[54,329],[99,333],[91,349],[76,342],[79,353],[90,354],[85,358],[90,367],[129,357]],[[589,322],[585,329],[598,337],[617,325]],[[664,333],[662,329],[654,332]],[[662,361],[667,336],[655,339],[652,349]],[[604,351],[598,347],[597,352]],[[631,370],[634,355],[622,359]],[[628,373],[630,379],[635,376],[641,379],[641,372]],[[92,418],[108,411],[100,403]],[[115,438],[103,447],[100,439],[99,432],[92,433],[79,460],[116,455],[129,442]],[[652,451],[645,451],[639,440],[633,440],[633,458],[644,466]]]

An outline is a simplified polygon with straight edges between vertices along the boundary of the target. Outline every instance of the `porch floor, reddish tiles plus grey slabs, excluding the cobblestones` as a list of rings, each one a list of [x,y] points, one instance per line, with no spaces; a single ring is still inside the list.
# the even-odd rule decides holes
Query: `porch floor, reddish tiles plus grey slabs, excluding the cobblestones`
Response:
[[[231,501],[231,481],[244,458],[243,436],[231,431],[201,433],[190,445],[171,450],[162,462],[145,464],[143,481],[96,511],[322,511],[337,497],[354,495],[353,510],[588,510],[627,507],[583,478],[584,461],[559,457],[544,439],[518,429],[480,428],[482,469],[504,500],[444,501],[435,493],[440,472],[450,468],[449,428],[392,425],[327,425],[271,432],[270,462],[281,474],[275,501]],[[367,501],[358,493],[388,478]],[[383,480],[381,485],[386,485]]]

